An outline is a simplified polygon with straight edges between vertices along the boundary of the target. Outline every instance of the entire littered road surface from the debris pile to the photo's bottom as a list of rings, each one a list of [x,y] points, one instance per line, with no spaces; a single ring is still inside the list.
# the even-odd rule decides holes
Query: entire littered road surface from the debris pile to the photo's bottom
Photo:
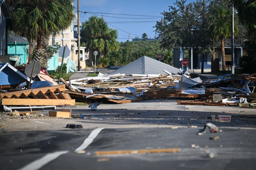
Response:
[[[101,104],[98,111],[66,108],[85,119],[2,116],[1,169],[256,169],[253,108],[161,99]],[[231,115],[231,121],[212,122],[211,115]],[[208,122],[219,132],[198,135]]]

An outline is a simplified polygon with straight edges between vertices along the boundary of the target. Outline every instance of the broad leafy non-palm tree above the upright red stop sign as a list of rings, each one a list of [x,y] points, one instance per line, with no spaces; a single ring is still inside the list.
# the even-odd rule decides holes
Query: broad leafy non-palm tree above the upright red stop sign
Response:
[[[169,11],[162,12],[164,18],[155,26],[157,38],[162,40],[161,48],[171,50],[184,47],[188,50],[195,47],[199,54],[210,51],[212,43],[207,36],[206,2],[177,0],[174,5],[169,6]]]

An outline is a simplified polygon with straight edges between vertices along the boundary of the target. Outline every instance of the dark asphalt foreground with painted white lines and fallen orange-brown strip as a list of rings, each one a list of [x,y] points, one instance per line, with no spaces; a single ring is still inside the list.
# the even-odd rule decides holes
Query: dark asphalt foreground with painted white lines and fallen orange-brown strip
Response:
[[[94,130],[2,134],[1,169],[255,169],[255,129],[96,129],[88,138]]]

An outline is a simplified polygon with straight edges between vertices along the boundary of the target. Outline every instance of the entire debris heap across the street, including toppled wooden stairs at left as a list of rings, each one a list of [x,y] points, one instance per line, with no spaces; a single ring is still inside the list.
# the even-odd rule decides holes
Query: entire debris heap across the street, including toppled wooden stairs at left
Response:
[[[130,103],[151,98],[183,99],[178,104],[254,107],[256,74],[202,78],[188,67],[179,73],[102,74],[59,85],[40,71],[32,80],[8,63],[0,64],[0,100],[5,110],[86,103]],[[32,84],[28,86],[28,84]],[[186,99],[186,100],[184,100]],[[254,105],[255,104],[255,105]],[[11,107],[10,107],[11,106]],[[10,108],[9,108],[10,107]]]

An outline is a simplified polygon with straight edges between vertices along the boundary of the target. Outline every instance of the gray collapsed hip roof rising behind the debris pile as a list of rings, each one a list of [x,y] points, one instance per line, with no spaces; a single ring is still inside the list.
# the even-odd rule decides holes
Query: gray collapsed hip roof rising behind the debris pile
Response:
[[[143,56],[119,69],[112,72],[111,74],[166,74],[163,70],[167,70],[170,73],[178,74],[180,69],[165,64],[161,61],[149,58],[147,56]]]

